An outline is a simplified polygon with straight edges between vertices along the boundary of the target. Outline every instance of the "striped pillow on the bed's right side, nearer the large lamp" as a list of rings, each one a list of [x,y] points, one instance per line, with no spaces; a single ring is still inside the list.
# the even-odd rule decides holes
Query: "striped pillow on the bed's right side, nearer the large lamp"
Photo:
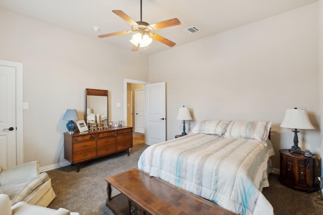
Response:
[[[223,134],[223,137],[246,138],[265,141],[270,132],[271,121],[232,121]]]

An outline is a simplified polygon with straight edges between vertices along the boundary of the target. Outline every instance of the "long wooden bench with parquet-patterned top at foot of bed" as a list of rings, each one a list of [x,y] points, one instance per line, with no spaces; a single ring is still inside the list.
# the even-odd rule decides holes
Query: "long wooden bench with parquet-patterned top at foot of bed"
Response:
[[[106,181],[106,206],[115,214],[235,214],[137,168]],[[112,196],[112,186],[121,193]]]

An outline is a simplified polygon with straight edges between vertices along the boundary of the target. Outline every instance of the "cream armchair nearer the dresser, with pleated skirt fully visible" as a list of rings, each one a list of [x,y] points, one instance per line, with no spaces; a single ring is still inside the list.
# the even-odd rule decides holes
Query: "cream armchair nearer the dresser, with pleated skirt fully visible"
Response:
[[[3,168],[0,165],[0,193],[9,196],[11,205],[25,201],[44,207],[56,196],[48,174],[39,174],[38,161],[13,168]]]

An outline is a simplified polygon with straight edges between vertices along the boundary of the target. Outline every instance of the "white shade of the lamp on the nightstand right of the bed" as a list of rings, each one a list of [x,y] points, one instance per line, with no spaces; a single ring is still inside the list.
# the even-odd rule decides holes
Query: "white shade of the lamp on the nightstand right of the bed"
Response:
[[[295,129],[314,129],[313,125],[308,119],[306,110],[302,109],[287,109],[280,127]]]

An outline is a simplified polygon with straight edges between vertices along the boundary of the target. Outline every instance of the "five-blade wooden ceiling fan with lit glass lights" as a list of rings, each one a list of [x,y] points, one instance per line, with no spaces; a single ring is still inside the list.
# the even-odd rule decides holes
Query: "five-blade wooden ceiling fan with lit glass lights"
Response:
[[[137,21],[137,22],[133,21],[133,19],[131,19],[127,14],[125,14],[123,11],[120,11],[120,10],[113,10],[112,12],[115,13],[117,16],[119,16],[121,19],[125,20],[128,24],[130,24],[132,29],[131,31],[120,31],[115,33],[98,35],[99,38],[135,33],[132,39],[130,40],[130,42],[133,44],[132,51],[138,51],[140,47],[148,46],[152,42],[152,39],[157,40],[161,43],[164,43],[165,45],[168,45],[170,47],[173,47],[174,45],[176,45],[175,42],[151,32],[161,28],[180,25],[181,22],[177,18],[165,20],[152,25],[149,25],[148,23],[143,22],[142,21],[142,0],[140,0],[140,21]]]

